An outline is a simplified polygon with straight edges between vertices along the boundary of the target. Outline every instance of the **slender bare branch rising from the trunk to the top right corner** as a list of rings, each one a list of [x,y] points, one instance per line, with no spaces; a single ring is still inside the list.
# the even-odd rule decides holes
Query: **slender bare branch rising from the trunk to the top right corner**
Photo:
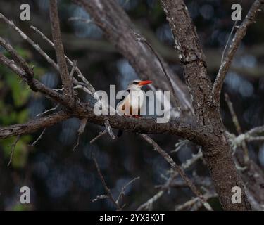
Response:
[[[255,22],[256,14],[261,4],[263,4],[263,1],[261,0],[254,1],[253,5],[249,9],[248,14],[246,15],[246,18],[243,20],[241,25],[239,25],[237,32],[234,34],[232,43],[230,44],[225,59],[222,61],[222,64],[220,65],[220,69],[218,70],[218,75],[216,76],[215,83],[213,84],[212,92],[213,92],[214,104],[218,104],[218,105],[220,104],[220,94],[221,94],[222,84],[224,82],[225,76],[227,75],[227,71],[230,68],[232,60],[234,58],[234,54],[236,53],[239,44],[241,43],[241,40],[246,35],[246,31],[248,30],[249,25]]]

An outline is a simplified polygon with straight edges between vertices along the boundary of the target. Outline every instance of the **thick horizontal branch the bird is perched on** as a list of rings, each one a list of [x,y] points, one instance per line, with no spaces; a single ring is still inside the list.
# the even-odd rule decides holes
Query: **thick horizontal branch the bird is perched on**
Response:
[[[18,134],[28,134],[40,128],[49,127],[56,122],[61,122],[70,117],[84,118],[87,117],[89,122],[105,126],[105,121],[108,120],[112,128],[123,129],[127,131],[146,133],[146,134],[172,134],[181,136],[184,139],[190,139],[195,142],[201,141],[201,130],[189,124],[183,124],[170,120],[167,123],[157,124],[156,120],[149,117],[142,117],[140,119],[125,117],[119,115],[94,115],[92,107],[86,108],[77,105],[75,112],[55,113],[46,117],[34,119],[25,124],[15,124],[0,129],[0,139],[5,139],[9,136],[16,136]]]

